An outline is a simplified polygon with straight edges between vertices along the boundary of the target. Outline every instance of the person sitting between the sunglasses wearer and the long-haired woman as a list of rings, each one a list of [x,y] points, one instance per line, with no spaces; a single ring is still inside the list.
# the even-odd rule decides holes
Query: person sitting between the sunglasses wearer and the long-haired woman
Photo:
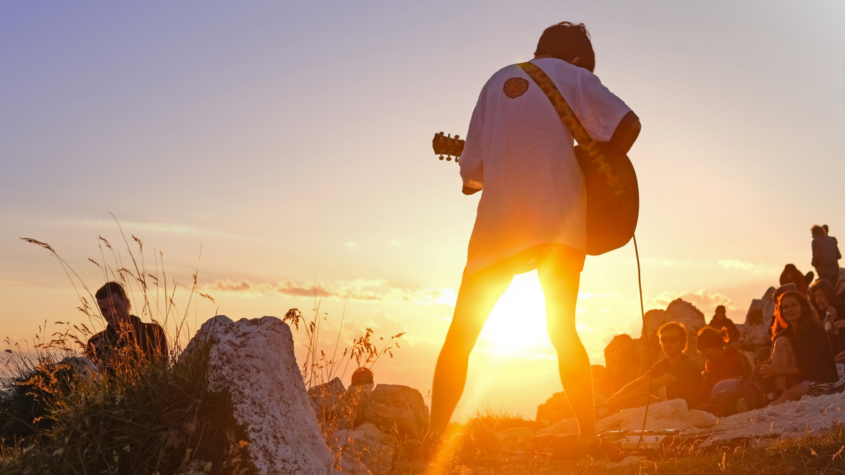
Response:
[[[695,347],[704,357],[704,382],[707,392],[719,381],[741,378],[751,374],[750,363],[746,362],[737,347],[728,345],[728,331],[706,326],[698,331]]]

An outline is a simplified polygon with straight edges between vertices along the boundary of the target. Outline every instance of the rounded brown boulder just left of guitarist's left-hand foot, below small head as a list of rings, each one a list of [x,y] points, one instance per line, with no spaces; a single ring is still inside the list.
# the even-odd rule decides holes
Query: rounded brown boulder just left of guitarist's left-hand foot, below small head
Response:
[[[400,440],[417,439],[428,429],[428,407],[418,390],[403,385],[377,385],[364,421],[387,434],[394,431],[395,425]]]

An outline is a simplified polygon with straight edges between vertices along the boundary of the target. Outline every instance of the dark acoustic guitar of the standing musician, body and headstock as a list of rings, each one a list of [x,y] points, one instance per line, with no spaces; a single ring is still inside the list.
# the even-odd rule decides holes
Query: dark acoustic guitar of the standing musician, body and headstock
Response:
[[[434,134],[434,153],[440,160],[455,163],[464,150],[464,140],[443,132]],[[600,255],[621,248],[634,236],[640,211],[640,190],[636,172],[624,151],[610,142],[596,142],[601,150],[597,160],[581,145],[575,145],[575,158],[584,174],[586,192],[586,254]]]

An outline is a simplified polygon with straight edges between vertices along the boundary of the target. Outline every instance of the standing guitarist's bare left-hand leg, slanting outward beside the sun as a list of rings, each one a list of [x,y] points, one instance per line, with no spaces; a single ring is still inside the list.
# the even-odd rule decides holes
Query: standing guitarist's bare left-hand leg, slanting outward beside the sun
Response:
[[[455,315],[434,368],[431,388],[431,423],[428,434],[444,434],[466,384],[470,352],[496,302],[513,275],[501,270],[480,270],[464,276],[455,302]]]

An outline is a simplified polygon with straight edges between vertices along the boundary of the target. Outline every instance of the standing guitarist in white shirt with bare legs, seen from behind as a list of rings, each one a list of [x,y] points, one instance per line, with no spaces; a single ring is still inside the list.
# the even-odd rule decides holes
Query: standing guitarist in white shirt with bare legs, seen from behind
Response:
[[[592,74],[595,54],[583,24],[549,26],[531,63],[553,80],[593,139],[630,150],[640,120]],[[488,79],[461,154],[463,193],[484,192],[455,314],[434,370],[433,440],[444,434],[461,399],[470,352],[493,306],[513,276],[536,269],[560,380],[580,426],[579,444],[597,444],[590,360],[575,330],[586,217],[573,144],[548,97],[519,66]]]

